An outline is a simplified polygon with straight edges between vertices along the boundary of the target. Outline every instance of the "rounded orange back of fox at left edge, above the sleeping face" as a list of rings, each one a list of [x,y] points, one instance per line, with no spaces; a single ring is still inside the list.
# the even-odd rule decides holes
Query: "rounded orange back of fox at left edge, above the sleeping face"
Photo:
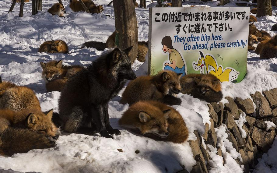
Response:
[[[10,109],[12,111],[23,109],[40,110],[40,103],[30,88],[2,81],[0,83],[0,109]]]

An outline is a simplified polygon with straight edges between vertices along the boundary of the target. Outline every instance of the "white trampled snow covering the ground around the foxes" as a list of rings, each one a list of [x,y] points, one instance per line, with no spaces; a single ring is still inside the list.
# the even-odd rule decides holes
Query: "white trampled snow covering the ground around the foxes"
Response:
[[[47,9],[58,1],[43,0],[43,12],[31,16],[31,2],[24,5],[23,17],[19,18],[19,3],[16,3],[14,12],[7,13],[11,5],[10,0],[0,0],[0,75],[3,80],[32,88],[40,100],[43,111],[58,110],[59,92],[47,93],[41,78],[42,69],[39,62],[51,59],[62,59],[69,65],[87,65],[102,52],[94,48],[80,49],[86,41],[106,42],[108,36],[115,30],[113,6],[107,6],[110,0],[95,0],[96,4],[104,4],[104,14],[88,14],[85,12],[71,12],[68,3],[63,1],[67,14],[65,18],[52,16]],[[139,1],[137,1],[139,3]],[[151,6],[147,0],[147,5]],[[198,2],[198,1],[195,1]],[[218,2],[206,3],[206,6],[216,6]],[[152,4],[154,5],[154,4]],[[184,7],[199,5],[198,3],[183,3]],[[201,5],[201,4],[200,4]],[[227,6],[236,6],[233,2]],[[258,18],[255,25],[258,29],[270,31],[277,23],[274,8],[273,16]],[[148,9],[136,9],[138,19],[138,39],[148,40]],[[70,54],[47,54],[37,52],[37,48],[44,41],[50,39],[64,40],[70,49]],[[248,53],[247,75],[237,84],[224,82],[223,94],[230,97],[250,98],[255,91],[277,88],[277,58],[259,59],[254,52]],[[136,74],[146,74],[147,64],[138,61],[133,65]],[[121,92],[122,93],[122,92]],[[120,95],[120,94],[119,94]],[[175,106],[184,117],[188,125],[189,139],[195,139],[193,131],[197,129],[204,132],[204,124],[209,122],[209,108],[205,101],[191,96],[179,94],[182,98],[181,106]],[[63,134],[57,141],[57,146],[49,149],[31,150],[24,154],[14,154],[12,157],[0,156],[0,169],[15,171],[36,171],[45,173],[55,172],[177,172],[182,170],[181,165],[190,171],[196,163],[188,142],[174,144],[171,142],[158,142],[143,136],[138,136],[121,129],[118,119],[128,109],[128,105],[119,104],[120,97],[109,103],[110,122],[114,128],[121,130],[121,135],[114,139],[107,139],[97,135]],[[225,99],[224,99],[225,100]],[[224,101],[223,100],[223,101]],[[226,101],[225,101],[226,102]],[[217,130],[219,145],[223,156],[228,162],[223,165],[222,157],[216,155],[216,149],[209,147],[213,158],[211,172],[242,172],[242,168],[234,160],[240,154],[230,148],[226,142],[224,126]],[[119,152],[117,149],[122,149]],[[277,142],[273,143],[271,150],[277,149]],[[139,150],[135,154],[135,150]],[[226,152],[229,150],[231,154]],[[277,162],[276,153],[268,151],[257,165],[256,172],[261,172],[268,162]],[[221,161],[221,162],[220,162]],[[277,164],[272,164],[277,165]],[[277,166],[268,168],[265,172],[277,172]]]

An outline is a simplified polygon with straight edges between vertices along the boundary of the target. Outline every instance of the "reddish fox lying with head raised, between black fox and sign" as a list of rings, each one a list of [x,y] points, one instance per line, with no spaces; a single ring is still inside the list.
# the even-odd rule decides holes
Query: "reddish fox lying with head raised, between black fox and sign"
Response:
[[[170,70],[162,70],[155,76],[139,76],[128,83],[123,92],[121,103],[134,104],[137,101],[156,100],[168,105],[179,105],[181,99],[171,94],[181,91],[180,77]]]

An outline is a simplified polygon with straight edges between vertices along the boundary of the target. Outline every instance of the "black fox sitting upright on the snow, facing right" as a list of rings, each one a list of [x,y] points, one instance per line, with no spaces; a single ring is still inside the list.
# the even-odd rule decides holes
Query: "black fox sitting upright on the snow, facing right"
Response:
[[[67,132],[95,133],[111,138],[119,135],[110,126],[108,102],[123,88],[127,80],[137,76],[131,69],[132,46],[101,55],[87,69],[74,75],[61,91],[59,116]]]

